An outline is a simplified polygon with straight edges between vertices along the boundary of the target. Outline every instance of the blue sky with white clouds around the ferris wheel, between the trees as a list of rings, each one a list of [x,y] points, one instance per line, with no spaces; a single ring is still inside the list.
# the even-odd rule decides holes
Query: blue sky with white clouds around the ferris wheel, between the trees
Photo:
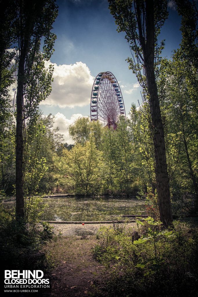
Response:
[[[124,33],[116,31],[115,20],[107,0],[59,0],[59,12],[53,24],[57,35],[52,92],[42,101],[44,115],[55,116],[54,127],[60,128],[67,143],[68,127],[80,116],[90,116],[90,97],[94,79],[99,72],[113,73],[123,95],[126,115],[132,102],[141,102],[141,88],[125,61],[131,56]],[[162,56],[171,57],[181,41],[180,17],[174,1],[168,1],[169,17],[158,40],[165,39]],[[49,62],[46,62],[46,67]]]

